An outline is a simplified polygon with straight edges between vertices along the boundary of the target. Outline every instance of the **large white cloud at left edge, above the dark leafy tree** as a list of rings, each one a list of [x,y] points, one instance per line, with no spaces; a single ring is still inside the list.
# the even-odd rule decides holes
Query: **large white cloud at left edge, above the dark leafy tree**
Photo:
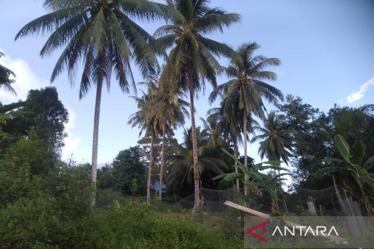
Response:
[[[29,90],[49,85],[49,81],[38,77],[25,60],[21,58],[12,59],[1,47],[0,51],[5,54],[5,56],[0,58],[0,64],[12,70],[16,75],[16,82],[12,84],[12,87],[16,91],[17,96],[0,90],[0,99],[3,104],[17,102],[19,99],[25,100]]]

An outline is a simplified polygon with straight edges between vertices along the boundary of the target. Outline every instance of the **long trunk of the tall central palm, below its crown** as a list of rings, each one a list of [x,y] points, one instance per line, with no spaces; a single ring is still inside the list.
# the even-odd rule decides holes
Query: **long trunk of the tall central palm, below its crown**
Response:
[[[197,138],[196,138],[196,124],[195,124],[195,107],[194,107],[194,89],[192,68],[188,67],[188,88],[190,90],[190,109],[191,109],[191,127],[192,127],[192,153],[193,153],[193,174],[195,185],[195,198],[193,203],[193,211],[197,211],[200,204],[200,189],[199,189],[199,165],[197,161]]]

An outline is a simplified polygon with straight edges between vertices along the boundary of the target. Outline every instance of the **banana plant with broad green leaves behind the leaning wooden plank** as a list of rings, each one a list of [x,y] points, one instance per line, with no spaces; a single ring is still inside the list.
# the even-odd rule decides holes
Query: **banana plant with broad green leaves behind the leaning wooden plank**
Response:
[[[244,186],[246,186],[248,189],[246,196],[236,191],[237,200],[240,205],[248,205],[249,199],[255,196],[262,196],[262,191],[264,190],[268,191],[273,197],[279,200],[279,197],[275,190],[280,190],[279,182],[282,180],[286,180],[285,178],[281,177],[283,175],[289,174],[281,173],[272,177],[271,175],[263,174],[260,171],[266,169],[286,170],[285,168],[274,166],[281,164],[282,161],[260,162],[259,164],[254,165],[252,168],[248,168],[244,164],[242,164],[235,156],[231,155],[227,150],[223,148],[222,150],[224,153],[234,159],[234,161],[236,161],[239,172],[217,175],[212,179],[217,180],[223,178],[223,181],[232,181],[238,179]],[[235,166],[236,165],[233,165],[233,167]]]

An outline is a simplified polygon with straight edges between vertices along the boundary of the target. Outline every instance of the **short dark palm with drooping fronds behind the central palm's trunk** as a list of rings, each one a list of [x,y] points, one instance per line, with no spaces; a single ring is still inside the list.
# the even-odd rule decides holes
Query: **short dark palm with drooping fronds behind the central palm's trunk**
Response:
[[[220,159],[206,155],[208,137],[209,135],[206,131],[200,131],[200,127],[196,127],[199,151],[197,157],[199,162],[199,178],[202,175],[206,175],[208,179],[211,179],[219,174],[223,174],[223,170],[227,169],[227,165]],[[168,175],[169,184],[182,175],[184,176],[183,182],[192,183],[192,179],[194,178],[192,128],[184,129],[183,143],[173,149],[175,154],[166,157],[166,160],[175,162],[170,166],[170,174]]]

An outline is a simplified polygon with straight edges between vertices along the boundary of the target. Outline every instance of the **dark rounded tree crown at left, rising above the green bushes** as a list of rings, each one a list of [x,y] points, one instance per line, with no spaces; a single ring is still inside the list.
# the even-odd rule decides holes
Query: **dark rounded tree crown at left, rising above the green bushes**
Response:
[[[68,111],[55,87],[30,90],[25,101],[1,106],[6,118],[1,124],[0,155],[21,137],[35,133],[51,152],[59,152],[67,136]]]

